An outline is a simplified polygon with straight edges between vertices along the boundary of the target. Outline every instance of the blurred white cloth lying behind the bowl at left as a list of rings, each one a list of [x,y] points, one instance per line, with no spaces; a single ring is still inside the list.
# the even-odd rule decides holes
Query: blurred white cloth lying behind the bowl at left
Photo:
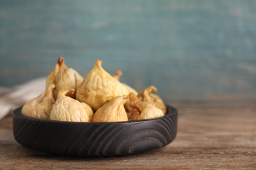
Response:
[[[47,77],[36,78],[12,88],[0,87],[0,120],[12,110],[43,93],[46,79]]]

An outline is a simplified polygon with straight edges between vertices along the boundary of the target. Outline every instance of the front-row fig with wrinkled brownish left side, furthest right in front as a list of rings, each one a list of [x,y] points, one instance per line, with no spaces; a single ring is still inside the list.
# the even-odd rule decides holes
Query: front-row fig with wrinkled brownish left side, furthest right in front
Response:
[[[139,101],[135,93],[130,93],[129,101],[125,103],[128,120],[143,120],[164,116],[163,112],[154,105]]]

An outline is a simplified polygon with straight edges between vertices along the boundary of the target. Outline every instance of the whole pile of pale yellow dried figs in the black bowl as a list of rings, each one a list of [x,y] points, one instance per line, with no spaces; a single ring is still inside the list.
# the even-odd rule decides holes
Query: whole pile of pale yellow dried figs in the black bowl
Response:
[[[102,60],[83,78],[58,58],[46,81],[46,90],[22,107],[22,114],[45,120],[70,122],[123,122],[164,116],[167,107],[155,86],[142,92],[119,82],[121,71],[112,76]]]

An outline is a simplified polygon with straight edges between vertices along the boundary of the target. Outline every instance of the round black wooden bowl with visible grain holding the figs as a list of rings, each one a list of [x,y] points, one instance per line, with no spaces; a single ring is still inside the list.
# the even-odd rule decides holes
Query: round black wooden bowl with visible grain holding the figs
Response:
[[[63,122],[13,111],[13,134],[24,146],[68,156],[122,156],[163,147],[177,134],[177,109],[161,118],[129,122]]]

